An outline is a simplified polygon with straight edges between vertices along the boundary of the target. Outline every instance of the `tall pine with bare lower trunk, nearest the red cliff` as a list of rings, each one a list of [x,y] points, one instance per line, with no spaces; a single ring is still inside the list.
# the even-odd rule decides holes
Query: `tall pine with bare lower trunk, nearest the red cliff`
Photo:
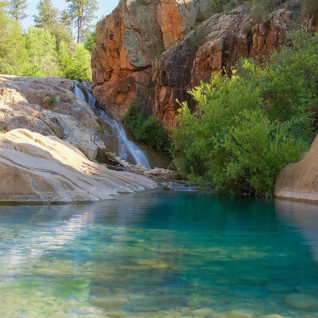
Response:
[[[98,10],[96,0],[66,0],[68,2],[68,19],[71,26],[77,28],[77,43],[80,43],[84,27],[91,27],[95,18],[94,12]]]

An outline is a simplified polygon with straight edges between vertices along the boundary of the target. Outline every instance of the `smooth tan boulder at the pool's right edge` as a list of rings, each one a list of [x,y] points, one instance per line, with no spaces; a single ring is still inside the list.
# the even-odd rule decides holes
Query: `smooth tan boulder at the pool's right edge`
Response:
[[[290,163],[278,174],[275,196],[304,200],[318,200],[318,135],[309,152],[297,163]]]

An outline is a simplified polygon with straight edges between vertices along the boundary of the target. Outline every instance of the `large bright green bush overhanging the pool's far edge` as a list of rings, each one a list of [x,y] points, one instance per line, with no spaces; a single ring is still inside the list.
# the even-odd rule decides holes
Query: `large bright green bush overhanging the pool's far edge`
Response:
[[[262,91],[253,83],[218,74],[189,93],[202,115],[182,103],[171,154],[191,181],[204,180],[226,192],[270,195],[280,169],[308,150],[309,144],[290,132],[297,119],[266,117]]]

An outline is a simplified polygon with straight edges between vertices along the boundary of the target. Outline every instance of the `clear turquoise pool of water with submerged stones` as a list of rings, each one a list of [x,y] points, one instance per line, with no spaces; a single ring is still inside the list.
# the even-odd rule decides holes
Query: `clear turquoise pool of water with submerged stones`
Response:
[[[0,317],[317,317],[317,228],[317,204],[191,192],[3,205]]]

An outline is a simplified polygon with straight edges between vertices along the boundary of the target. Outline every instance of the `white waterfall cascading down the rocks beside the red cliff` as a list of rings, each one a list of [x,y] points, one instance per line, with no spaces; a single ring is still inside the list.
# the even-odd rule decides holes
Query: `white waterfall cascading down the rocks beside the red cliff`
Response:
[[[96,100],[94,96],[89,92],[89,90],[81,83],[74,82],[74,95],[77,98],[85,100],[88,105],[95,110],[95,113],[98,114],[98,117],[107,124],[107,127],[111,131],[104,131],[105,135],[113,135],[117,138],[118,141],[118,150],[117,154],[121,158],[127,161],[132,161],[134,164],[144,163],[148,170],[151,169],[147,155],[144,153],[141,147],[136,145],[134,142],[128,139],[125,129],[121,123],[115,121],[114,119],[107,116],[105,111],[97,110],[95,107]]]

